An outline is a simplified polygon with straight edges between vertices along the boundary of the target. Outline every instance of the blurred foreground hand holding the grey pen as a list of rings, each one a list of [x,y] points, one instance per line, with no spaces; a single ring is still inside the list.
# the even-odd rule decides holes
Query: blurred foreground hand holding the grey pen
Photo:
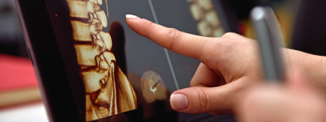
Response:
[[[241,122],[325,122],[326,101],[300,70],[285,85],[265,84],[248,92],[240,102]]]

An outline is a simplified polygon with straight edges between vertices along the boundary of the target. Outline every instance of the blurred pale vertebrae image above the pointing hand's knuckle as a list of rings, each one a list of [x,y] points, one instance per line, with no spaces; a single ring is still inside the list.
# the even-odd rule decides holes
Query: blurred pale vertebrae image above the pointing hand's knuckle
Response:
[[[221,37],[225,32],[214,9],[212,0],[187,0],[197,29],[204,37]]]

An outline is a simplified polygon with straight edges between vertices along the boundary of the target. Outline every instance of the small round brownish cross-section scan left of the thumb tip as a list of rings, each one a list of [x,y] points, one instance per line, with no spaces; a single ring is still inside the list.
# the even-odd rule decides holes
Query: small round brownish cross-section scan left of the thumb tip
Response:
[[[141,89],[147,103],[167,99],[167,88],[161,76],[150,70],[141,76]]]

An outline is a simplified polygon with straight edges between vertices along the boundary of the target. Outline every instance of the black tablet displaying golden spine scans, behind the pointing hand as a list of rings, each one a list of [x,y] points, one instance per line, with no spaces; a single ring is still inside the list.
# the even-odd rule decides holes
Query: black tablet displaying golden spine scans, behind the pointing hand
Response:
[[[236,32],[220,1],[16,0],[16,6],[50,121],[234,121],[173,111],[170,94],[189,87],[200,61],[138,35],[125,18],[220,37]]]

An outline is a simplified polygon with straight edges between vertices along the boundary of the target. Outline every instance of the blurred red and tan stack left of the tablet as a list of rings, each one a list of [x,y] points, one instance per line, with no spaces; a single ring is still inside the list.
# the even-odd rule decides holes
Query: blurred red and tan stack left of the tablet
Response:
[[[41,101],[29,58],[0,54],[0,107]]]

